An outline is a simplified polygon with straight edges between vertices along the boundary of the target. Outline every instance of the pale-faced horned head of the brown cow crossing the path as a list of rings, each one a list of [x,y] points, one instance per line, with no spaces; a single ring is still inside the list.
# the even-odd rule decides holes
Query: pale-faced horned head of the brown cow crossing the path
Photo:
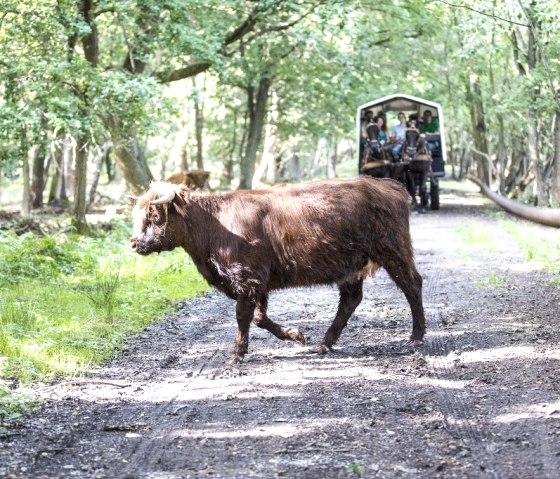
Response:
[[[132,209],[132,251],[148,255],[170,251],[181,245],[184,228],[180,210],[184,206],[184,189],[166,181],[155,181],[136,200]]]

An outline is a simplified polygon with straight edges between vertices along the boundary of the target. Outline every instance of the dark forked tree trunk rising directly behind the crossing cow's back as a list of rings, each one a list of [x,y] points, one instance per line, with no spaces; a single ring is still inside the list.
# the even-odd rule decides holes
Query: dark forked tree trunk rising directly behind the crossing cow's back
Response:
[[[255,173],[255,163],[257,160],[257,152],[261,146],[270,85],[270,78],[263,77],[259,81],[256,95],[252,86],[247,90],[249,125],[245,155],[241,159],[240,165],[239,189],[251,189],[253,186],[252,181]]]

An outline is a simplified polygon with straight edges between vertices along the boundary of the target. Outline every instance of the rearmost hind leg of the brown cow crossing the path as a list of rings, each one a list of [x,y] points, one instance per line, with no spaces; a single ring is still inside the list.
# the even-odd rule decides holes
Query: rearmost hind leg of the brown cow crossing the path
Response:
[[[404,293],[412,313],[412,334],[409,343],[418,346],[426,332],[426,318],[422,304],[422,276],[416,270],[412,253],[395,254],[383,262],[395,284]]]

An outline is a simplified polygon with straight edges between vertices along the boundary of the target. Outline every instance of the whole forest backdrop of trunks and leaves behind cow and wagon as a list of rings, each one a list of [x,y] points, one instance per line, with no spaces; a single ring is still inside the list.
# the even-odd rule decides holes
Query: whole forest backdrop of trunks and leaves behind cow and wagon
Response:
[[[405,93],[443,105],[450,174],[557,205],[559,22],[557,0],[4,0],[0,193],[79,225],[100,181],[355,176],[356,108]]]

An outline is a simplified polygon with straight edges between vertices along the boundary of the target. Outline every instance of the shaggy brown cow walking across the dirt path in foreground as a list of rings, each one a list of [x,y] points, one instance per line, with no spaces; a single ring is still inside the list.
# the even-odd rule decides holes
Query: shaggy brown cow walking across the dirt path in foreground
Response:
[[[248,351],[251,322],[305,344],[297,330],[267,317],[271,290],[337,284],[338,311],[319,353],[338,340],[362,300],[364,278],[385,268],[412,311],[410,343],[425,331],[422,278],[409,232],[410,197],[393,180],[358,178],[223,195],[152,183],[133,210],[133,251],[183,247],[212,286],[237,301],[231,362]]]

